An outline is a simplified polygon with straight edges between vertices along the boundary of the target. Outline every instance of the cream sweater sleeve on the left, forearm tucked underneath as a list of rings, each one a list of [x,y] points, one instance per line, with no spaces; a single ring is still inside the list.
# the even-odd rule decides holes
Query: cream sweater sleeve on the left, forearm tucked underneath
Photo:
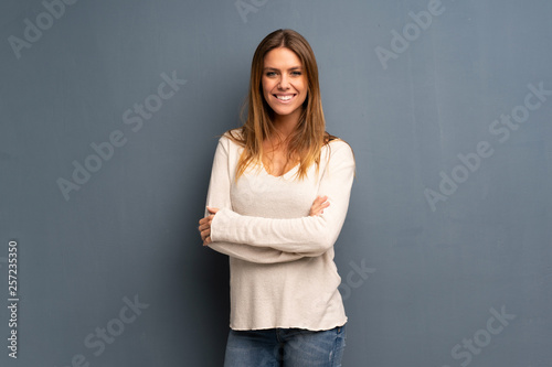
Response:
[[[230,185],[234,177],[233,165],[230,161],[229,151],[230,140],[223,137],[219,140],[219,145],[213,160],[211,180],[209,183],[206,205],[216,207],[221,211],[232,211],[232,202],[230,198]],[[220,213],[220,212],[219,212]],[[215,217],[219,215],[215,215]],[[205,208],[205,216],[210,213]],[[213,240],[209,247],[215,251],[234,257],[241,260],[257,262],[257,263],[276,263],[295,261],[304,257],[304,255],[284,252],[270,247],[253,247],[240,242],[229,242],[224,240]]]

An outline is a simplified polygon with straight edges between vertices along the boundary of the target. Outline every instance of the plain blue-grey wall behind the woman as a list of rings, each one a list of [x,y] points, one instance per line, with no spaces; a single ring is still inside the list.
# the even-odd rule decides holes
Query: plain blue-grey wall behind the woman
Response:
[[[0,6],[2,366],[221,366],[227,259],[197,222],[278,28],[358,163],[343,366],[550,366],[550,1],[65,1]]]

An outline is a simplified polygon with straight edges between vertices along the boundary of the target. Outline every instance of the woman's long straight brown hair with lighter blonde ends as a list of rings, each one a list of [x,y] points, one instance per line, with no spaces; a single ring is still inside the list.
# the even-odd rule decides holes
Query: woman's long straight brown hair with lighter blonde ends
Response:
[[[288,149],[288,162],[299,160],[297,177],[304,179],[307,170],[320,163],[320,150],[336,137],[326,132],[326,121],[322,111],[320,87],[318,82],[318,66],[315,53],[307,40],[293,30],[277,30],[268,34],[257,46],[251,65],[250,90],[247,102],[242,109],[247,109],[247,117],[236,134],[229,131],[230,138],[244,148],[236,168],[237,180],[250,166],[261,168],[263,159],[263,141],[276,136],[273,118],[274,111],[263,96],[263,68],[265,55],[277,47],[293,51],[301,61],[307,76],[307,98],[302,104],[296,130],[291,133]]]

